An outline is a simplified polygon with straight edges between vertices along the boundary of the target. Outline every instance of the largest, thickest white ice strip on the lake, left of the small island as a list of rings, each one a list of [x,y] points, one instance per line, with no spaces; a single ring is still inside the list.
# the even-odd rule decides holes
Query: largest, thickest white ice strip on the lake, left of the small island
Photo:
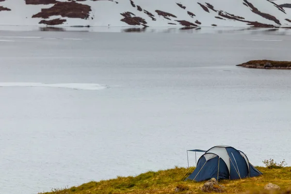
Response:
[[[103,90],[107,85],[97,83],[35,83],[35,82],[0,82],[0,87],[53,87],[69,88],[75,90]]]

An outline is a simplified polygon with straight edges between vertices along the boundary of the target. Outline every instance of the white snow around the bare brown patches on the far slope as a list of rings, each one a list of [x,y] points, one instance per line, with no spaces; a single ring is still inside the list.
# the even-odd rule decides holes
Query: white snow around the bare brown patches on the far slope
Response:
[[[61,0],[62,2],[69,2],[68,0]],[[134,4],[139,5],[143,11],[138,11],[137,7],[133,7],[129,0],[117,0],[118,3],[109,0],[85,0],[78,1],[80,4],[89,5],[91,7],[90,16],[87,19],[81,18],[68,18],[62,16],[50,16],[49,19],[66,19],[66,22],[57,26],[117,26],[117,27],[128,27],[129,24],[121,21],[123,16],[121,13],[131,12],[135,16],[142,17],[146,20],[147,26],[151,27],[180,27],[178,21],[176,20],[186,20],[191,23],[195,23],[196,20],[201,22],[199,26],[211,26],[215,24],[217,26],[237,26],[246,27],[247,24],[242,21],[236,21],[233,19],[218,19],[218,13],[209,9],[209,13],[202,9],[198,4],[206,6],[206,3],[210,3],[214,6],[215,10],[223,11],[223,13],[233,14],[235,16],[242,16],[248,21],[258,21],[264,24],[271,24],[277,26],[277,24],[259,16],[251,11],[251,8],[245,6],[243,0],[133,0]],[[252,3],[258,10],[262,13],[275,16],[282,26],[290,26],[290,22],[286,22],[286,18],[291,18],[291,9],[284,8],[286,14],[280,11],[272,2],[268,0],[248,0]],[[277,0],[274,1],[277,4],[288,3],[287,0]],[[185,6],[182,9],[177,5],[181,3]],[[26,5],[24,0],[6,0],[0,2],[0,6],[7,7],[11,11],[1,11],[0,12],[0,25],[31,25],[31,26],[46,26],[45,24],[39,24],[42,18],[32,18],[33,15],[41,12],[41,9],[50,8],[53,4],[48,5]],[[150,12],[154,15],[156,21],[152,20],[149,16],[144,13],[144,10]],[[156,10],[161,10],[177,16],[169,17],[169,19],[163,16],[158,16],[155,12]],[[187,14],[187,11],[192,12],[195,16],[192,18]],[[49,20],[46,19],[46,20]],[[169,23],[174,23],[176,25],[171,25]]]

